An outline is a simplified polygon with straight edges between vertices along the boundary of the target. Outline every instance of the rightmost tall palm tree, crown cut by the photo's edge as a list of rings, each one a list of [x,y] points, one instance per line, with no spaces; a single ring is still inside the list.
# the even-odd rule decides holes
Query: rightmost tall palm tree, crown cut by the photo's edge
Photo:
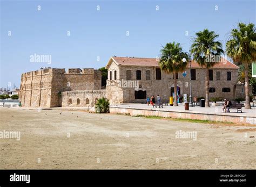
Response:
[[[238,23],[238,28],[233,28],[230,38],[226,43],[226,52],[234,62],[244,64],[245,77],[245,109],[251,109],[249,93],[248,63],[256,60],[256,33],[252,23],[248,25]]]

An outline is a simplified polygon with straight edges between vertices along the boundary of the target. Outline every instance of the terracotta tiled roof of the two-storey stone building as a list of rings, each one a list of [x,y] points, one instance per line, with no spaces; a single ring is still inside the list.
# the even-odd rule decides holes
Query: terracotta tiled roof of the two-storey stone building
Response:
[[[112,56],[112,59],[121,66],[154,66],[159,67],[158,60],[156,58],[141,58],[141,57],[119,57]],[[192,61],[192,68],[201,68],[198,63]],[[221,61],[213,68],[226,68],[226,69],[238,69],[238,66],[235,66],[232,62],[221,57]]]

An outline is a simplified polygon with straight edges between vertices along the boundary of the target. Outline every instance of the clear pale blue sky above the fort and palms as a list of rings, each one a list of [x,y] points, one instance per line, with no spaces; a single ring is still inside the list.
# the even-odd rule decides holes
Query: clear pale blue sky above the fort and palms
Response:
[[[113,55],[156,57],[166,42],[188,52],[204,28],[217,32],[225,48],[238,21],[255,24],[255,10],[253,0],[1,0],[0,87],[19,87],[22,73],[41,67],[100,68]],[[33,54],[51,55],[51,64],[31,62]]]

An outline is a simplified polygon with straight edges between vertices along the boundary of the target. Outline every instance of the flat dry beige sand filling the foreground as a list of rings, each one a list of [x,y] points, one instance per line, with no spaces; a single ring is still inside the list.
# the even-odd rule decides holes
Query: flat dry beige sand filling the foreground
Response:
[[[6,108],[0,117],[0,131],[21,132],[0,139],[0,169],[256,169],[253,125]]]

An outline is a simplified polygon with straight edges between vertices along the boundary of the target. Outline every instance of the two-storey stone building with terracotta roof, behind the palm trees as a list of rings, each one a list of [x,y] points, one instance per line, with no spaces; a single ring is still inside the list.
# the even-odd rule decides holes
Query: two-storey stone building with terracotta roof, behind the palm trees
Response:
[[[169,100],[174,93],[172,74],[160,70],[158,59],[140,57],[110,58],[108,69],[107,98],[111,103],[142,103],[152,95]],[[237,85],[238,66],[221,57],[221,61],[211,69],[210,98],[234,99],[242,97],[242,87]],[[190,73],[192,97],[205,97],[205,68],[191,62],[183,73],[178,73],[177,86],[179,96],[190,95]]]

